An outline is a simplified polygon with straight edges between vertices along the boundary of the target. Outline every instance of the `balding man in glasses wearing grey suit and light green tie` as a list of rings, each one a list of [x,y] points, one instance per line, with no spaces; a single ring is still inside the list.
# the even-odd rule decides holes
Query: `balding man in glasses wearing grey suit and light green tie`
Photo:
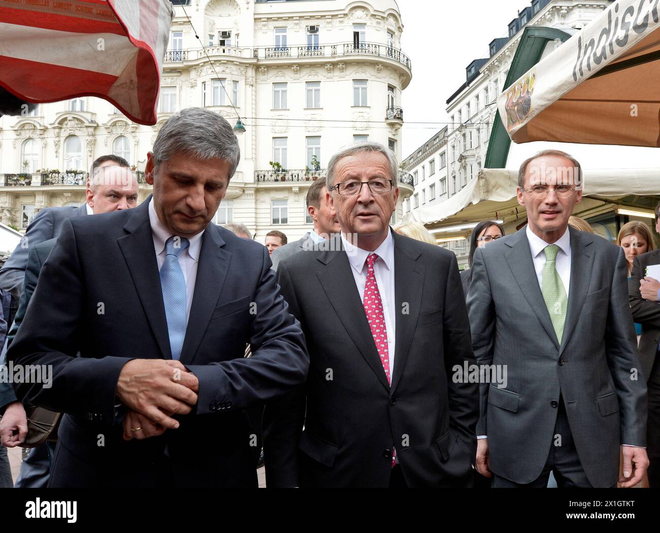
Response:
[[[648,466],[626,261],[598,235],[568,228],[581,188],[568,154],[525,160],[517,197],[527,227],[475,253],[475,357],[507,373],[504,388],[480,383],[476,465],[493,487],[545,487],[550,472],[559,487],[614,487],[617,478],[630,487]]]

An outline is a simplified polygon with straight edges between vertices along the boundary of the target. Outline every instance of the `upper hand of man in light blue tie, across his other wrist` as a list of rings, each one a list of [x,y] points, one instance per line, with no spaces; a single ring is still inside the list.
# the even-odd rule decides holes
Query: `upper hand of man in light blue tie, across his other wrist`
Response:
[[[176,429],[179,422],[171,415],[191,412],[198,390],[197,377],[180,361],[133,359],[119,373],[116,394],[130,410],[165,429]]]

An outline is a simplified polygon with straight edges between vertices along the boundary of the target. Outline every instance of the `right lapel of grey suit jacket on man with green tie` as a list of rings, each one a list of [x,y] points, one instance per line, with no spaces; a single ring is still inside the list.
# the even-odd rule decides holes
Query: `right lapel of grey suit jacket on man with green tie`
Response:
[[[560,353],[566,348],[566,343],[578,322],[582,303],[587,295],[587,290],[589,290],[594,259],[593,253],[589,249],[594,237],[573,228],[569,228],[569,231],[571,235],[571,280],[568,289],[568,308],[566,309],[566,322],[564,323]]]

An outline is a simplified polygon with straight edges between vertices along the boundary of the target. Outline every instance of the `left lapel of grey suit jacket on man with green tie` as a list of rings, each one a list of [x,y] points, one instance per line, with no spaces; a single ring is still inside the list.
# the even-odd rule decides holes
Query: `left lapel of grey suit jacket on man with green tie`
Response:
[[[534,314],[541,322],[543,329],[548,334],[554,345],[559,348],[557,334],[554,332],[552,321],[550,320],[550,313],[548,307],[545,305],[543,293],[539,287],[539,278],[537,278],[536,270],[534,268],[534,261],[532,259],[531,249],[529,248],[529,241],[525,228],[513,234],[510,239],[504,239],[504,242],[510,246],[510,249],[504,253],[504,257],[511,268],[511,272],[518,286],[520,287],[523,296],[529,303]]]

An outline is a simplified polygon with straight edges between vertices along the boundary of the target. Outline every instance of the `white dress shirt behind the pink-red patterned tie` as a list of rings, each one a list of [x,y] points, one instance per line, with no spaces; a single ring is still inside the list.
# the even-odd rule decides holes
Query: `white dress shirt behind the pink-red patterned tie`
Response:
[[[378,284],[378,292],[383,302],[383,314],[385,315],[385,329],[387,329],[387,353],[389,354],[389,377],[394,375],[394,350],[395,332],[397,326],[397,312],[394,299],[394,239],[391,230],[387,237],[373,252],[358,248],[347,241],[341,234],[341,241],[347,251],[348,262],[353,272],[355,284],[360,293],[360,299],[364,303],[364,286],[367,282],[367,256],[371,253],[378,255],[374,262],[374,274]]]

